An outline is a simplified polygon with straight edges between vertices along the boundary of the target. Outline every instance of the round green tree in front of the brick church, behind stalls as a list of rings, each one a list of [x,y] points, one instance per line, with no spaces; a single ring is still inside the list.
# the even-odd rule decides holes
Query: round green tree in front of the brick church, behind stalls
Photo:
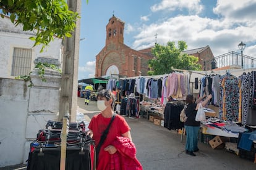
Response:
[[[186,49],[187,43],[185,41],[179,41],[177,47],[175,42],[171,41],[167,43],[167,46],[156,44],[151,51],[155,58],[148,61],[150,67],[148,74],[168,74],[173,71],[172,67],[181,70],[200,70],[197,57],[182,53]]]

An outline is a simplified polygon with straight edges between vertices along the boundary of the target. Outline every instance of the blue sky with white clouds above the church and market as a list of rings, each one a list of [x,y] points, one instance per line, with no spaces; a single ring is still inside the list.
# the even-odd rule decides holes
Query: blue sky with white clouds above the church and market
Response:
[[[256,0],[82,0],[78,79],[94,77],[113,11],[125,22],[124,44],[135,50],[183,40],[188,50],[208,45],[218,56],[240,52],[243,41],[243,54],[256,57],[255,9]]]

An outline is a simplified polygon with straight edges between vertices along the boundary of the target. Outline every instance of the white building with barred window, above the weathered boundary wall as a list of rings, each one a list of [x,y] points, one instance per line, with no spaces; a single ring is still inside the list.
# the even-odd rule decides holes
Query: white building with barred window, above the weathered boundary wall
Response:
[[[10,18],[0,18],[0,78],[28,75],[35,62],[60,65],[62,39],[54,39],[40,53],[41,46],[33,47],[35,41],[29,39],[34,35],[32,31],[22,31],[22,27],[15,26]]]

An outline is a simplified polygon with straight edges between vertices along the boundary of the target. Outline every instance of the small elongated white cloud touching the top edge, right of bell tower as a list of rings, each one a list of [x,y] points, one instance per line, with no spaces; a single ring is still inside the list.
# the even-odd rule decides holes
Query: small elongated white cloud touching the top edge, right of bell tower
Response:
[[[200,0],[163,0],[159,4],[155,4],[151,6],[152,12],[158,12],[160,10],[182,10],[187,9],[192,14],[199,14],[203,6],[200,4]]]

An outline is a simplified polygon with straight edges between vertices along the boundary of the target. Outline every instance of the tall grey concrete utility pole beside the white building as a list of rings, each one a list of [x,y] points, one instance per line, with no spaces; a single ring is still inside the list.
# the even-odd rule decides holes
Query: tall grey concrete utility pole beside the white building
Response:
[[[69,10],[81,14],[81,0],[67,0]],[[64,54],[62,62],[61,92],[59,100],[59,121],[68,116],[70,122],[76,121],[77,86],[79,67],[80,18],[77,18],[76,28],[72,37],[64,39]]]

